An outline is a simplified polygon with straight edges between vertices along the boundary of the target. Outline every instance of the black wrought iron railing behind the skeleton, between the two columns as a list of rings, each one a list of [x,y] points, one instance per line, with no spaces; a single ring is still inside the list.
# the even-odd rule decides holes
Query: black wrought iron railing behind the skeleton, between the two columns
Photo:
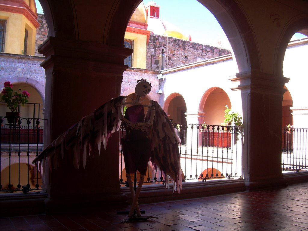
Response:
[[[241,178],[240,127],[203,124],[174,124],[174,127],[181,139],[179,150],[183,181]],[[124,128],[120,136],[125,136]],[[123,152],[120,154],[120,183],[127,186]],[[138,174],[136,178],[139,179]],[[162,173],[156,171],[149,161],[144,182],[164,183],[164,180]]]

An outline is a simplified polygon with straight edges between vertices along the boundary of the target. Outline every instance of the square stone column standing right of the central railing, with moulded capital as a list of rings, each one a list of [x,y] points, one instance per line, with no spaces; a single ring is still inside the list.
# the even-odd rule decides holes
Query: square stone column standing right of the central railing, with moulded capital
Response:
[[[248,188],[285,183],[281,169],[283,85],[287,78],[261,72],[238,73],[243,105],[243,176]],[[236,89],[233,89],[236,90]]]

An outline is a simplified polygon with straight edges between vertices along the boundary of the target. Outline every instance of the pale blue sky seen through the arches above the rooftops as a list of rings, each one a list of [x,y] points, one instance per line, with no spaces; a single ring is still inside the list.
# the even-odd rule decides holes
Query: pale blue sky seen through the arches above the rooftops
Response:
[[[146,5],[149,0],[144,0]],[[229,41],[209,10],[207,10],[197,0],[155,0],[160,6],[160,19],[167,21],[184,34],[190,34],[192,41],[196,43],[217,46],[218,39],[221,46],[231,49]],[[43,14],[39,0],[35,0],[39,14]],[[297,38],[304,38],[302,34],[296,34]]]

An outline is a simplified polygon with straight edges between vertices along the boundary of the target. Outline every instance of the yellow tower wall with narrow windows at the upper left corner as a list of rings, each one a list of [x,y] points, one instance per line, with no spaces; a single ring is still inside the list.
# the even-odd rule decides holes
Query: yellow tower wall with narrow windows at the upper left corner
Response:
[[[22,54],[25,29],[28,30],[27,55],[34,55],[36,28],[22,14],[0,12],[0,19],[6,20],[4,52]]]

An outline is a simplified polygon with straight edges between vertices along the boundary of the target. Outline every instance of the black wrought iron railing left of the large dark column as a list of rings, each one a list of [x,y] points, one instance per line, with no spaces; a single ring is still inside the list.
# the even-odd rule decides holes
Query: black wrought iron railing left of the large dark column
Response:
[[[43,149],[43,119],[0,117],[0,192],[42,190],[39,171],[32,161]],[[27,124],[27,125],[22,125]]]

